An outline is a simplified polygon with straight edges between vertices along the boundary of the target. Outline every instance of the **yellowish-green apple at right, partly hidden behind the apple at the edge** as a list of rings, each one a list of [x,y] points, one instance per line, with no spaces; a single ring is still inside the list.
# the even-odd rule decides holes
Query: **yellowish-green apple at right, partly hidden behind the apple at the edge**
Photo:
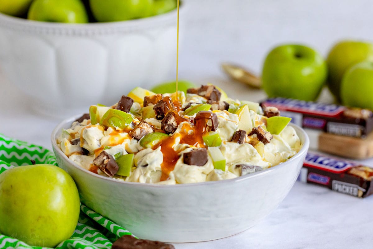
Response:
[[[363,41],[341,41],[330,50],[326,59],[329,69],[327,84],[337,100],[340,100],[344,73],[363,60],[373,61],[373,44]]]

